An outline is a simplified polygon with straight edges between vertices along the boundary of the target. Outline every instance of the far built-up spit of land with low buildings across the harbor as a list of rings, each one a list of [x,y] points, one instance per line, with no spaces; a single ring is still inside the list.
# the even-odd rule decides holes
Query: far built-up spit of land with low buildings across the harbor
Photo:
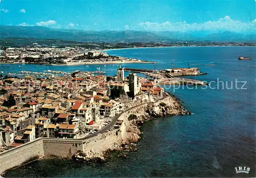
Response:
[[[119,63],[156,63],[139,59],[108,55],[101,50],[83,47],[8,47],[0,52],[0,63],[45,64],[45,65],[89,65]]]

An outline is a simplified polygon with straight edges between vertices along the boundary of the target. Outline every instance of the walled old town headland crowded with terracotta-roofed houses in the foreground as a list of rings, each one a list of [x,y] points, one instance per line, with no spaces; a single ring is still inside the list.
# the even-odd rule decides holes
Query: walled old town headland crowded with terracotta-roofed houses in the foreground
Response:
[[[125,76],[124,71],[119,66],[114,77],[87,71],[23,71],[25,77],[0,80],[0,174],[52,156],[104,161],[109,150],[127,149],[138,141],[138,125],[144,121],[190,114],[156,79],[135,72]],[[170,76],[167,72],[158,74]]]

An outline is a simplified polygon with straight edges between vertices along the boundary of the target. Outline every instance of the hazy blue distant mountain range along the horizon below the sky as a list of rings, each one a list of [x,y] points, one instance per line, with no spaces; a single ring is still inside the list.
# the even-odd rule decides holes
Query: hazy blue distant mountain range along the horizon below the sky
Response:
[[[170,41],[233,41],[256,42],[256,34],[241,34],[230,31],[198,35],[199,32],[146,32],[146,31],[83,31],[61,30],[46,27],[0,26],[0,39],[34,38],[78,42],[170,42]]]

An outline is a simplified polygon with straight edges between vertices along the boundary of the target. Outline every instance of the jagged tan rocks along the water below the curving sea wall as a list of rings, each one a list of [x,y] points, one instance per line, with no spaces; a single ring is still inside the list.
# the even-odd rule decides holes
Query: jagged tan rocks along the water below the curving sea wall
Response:
[[[73,159],[82,162],[104,162],[109,158],[111,152],[116,152],[117,157],[126,158],[127,151],[136,151],[137,142],[141,138],[141,132],[139,127],[145,122],[159,117],[173,116],[173,115],[187,115],[191,114],[186,110],[181,101],[172,94],[168,94],[169,100],[166,103],[161,102],[159,104],[159,110],[154,111],[153,106],[146,106],[138,108],[137,110],[130,112],[128,122],[126,124],[126,136],[122,140],[115,142],[110,148],[105,149],[102,152],[87,151],[82,152],[78,150]]]

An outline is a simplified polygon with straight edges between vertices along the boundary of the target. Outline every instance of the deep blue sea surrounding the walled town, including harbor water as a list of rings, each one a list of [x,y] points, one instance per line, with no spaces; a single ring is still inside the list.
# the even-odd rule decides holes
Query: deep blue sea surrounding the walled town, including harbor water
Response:
[[[65,159],[32,162],[5,177],[255,177],[256,173],[256,47],[155,47],[106,51],[110,55],[155,61],[121,67],[162,70],[199,67],[206,75],[186,77],[208,86],[163,86],[192,114],[160,117],[140,128],[137,151],[122,159],[114,153],[104,163]],[[239,56],[252,60],[238,60]],[[50,66],[0,64],[4,73],[21,70],[117,72],[116,64]],[[125,74],[129,74],[126,72]],[[15,160],[14,160],[15,161]],[[236,167],[250,168],[236,173]]]

